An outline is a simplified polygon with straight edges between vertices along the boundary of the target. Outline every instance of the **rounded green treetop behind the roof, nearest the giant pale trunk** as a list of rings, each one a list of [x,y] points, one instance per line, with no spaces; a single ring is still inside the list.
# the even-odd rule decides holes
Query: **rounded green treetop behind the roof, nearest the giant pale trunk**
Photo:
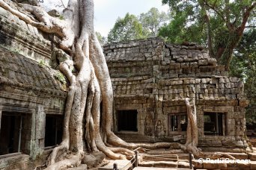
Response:
[[[124,42],[129,40],[137,40],[147,37],[147,31],[143,27],[138,18],[134,15],[127,15],[124,19],[118,18],[115,22],[114,28],[109,32],[109,42]]]

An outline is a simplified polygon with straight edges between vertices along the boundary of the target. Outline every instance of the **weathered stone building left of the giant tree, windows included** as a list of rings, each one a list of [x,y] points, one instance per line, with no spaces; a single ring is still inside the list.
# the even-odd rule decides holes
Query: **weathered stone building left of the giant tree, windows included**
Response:
[[[0,169],[34,169],[61,139],[67,92],[49,66],[53,38],[0,7]]]

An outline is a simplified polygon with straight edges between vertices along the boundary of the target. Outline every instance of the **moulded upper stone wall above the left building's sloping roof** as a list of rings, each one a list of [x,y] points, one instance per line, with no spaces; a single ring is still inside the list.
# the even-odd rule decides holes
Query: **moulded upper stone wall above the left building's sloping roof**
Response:
[[[37,28],[26,24],[1,7],[0,45],[44,63],[49,63],[51,57],[51,42],[44,39]]]

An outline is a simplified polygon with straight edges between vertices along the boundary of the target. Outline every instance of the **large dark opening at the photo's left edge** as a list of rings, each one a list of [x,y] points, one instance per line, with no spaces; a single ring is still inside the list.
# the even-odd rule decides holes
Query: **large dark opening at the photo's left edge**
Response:
[[[29,153],[25,143],[31,138],[31,116],[23,113],[1,113],[0,155]]]

